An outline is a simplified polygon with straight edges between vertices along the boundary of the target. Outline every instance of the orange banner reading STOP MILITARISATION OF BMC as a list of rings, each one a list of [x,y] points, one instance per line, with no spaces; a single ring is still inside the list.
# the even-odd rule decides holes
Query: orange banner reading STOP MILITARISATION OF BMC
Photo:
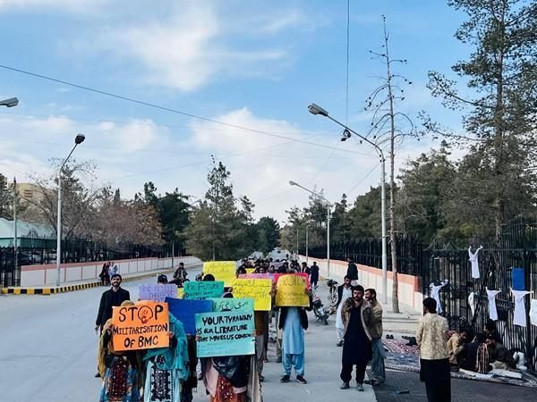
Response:
[[[112,342],[115,351],[166,348],[170,338],[166,303],[140,301],[112,308]]]

